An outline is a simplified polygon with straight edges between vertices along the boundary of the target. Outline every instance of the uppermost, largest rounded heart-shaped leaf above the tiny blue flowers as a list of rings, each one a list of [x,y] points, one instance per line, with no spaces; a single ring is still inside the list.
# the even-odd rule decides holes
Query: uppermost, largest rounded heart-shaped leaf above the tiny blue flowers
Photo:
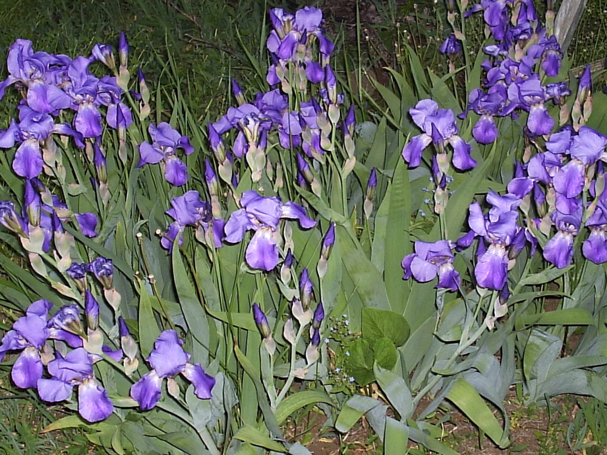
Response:
[[[362,336],[371,348],[381,338],[402,346],[407,342],[409,334],[409,324],[400,314],[377,308],[362,309]]]

